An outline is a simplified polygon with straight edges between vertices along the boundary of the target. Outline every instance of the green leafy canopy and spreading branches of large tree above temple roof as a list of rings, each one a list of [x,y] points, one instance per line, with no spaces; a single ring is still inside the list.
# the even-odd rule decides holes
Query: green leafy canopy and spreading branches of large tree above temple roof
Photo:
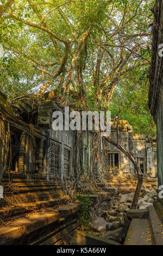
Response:
[[[15,1],[1,17],[0,87],[11,98],[55,89],[66,104],[73,92],[84,107],[108,108],[126,74],[148,68],[152,4]]]

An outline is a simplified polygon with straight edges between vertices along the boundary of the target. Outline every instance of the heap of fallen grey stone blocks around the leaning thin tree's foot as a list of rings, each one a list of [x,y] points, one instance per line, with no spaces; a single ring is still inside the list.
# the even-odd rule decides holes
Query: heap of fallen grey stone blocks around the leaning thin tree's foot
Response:
[[[137,209],[147,209],[149,205],[153,205],[157,193],[152,186],[149,188],[150,190],[145,186],[142,187]],[[103,211],[101,217],[97,217],[91,223],[91,230],[103,239],[123,244],[131,222],[128,210],[131,209],[133,198],[134,193],[122,194],[118,200],[115,200],[112,210]]]

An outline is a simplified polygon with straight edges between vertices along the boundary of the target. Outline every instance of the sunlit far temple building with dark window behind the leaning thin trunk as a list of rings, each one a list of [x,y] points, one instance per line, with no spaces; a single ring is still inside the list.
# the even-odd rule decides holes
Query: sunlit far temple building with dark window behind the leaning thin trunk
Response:
[[[120,121],[120,142],[124,149],[134,156],[140,164],[144,176],[155,178],[157,176],[156,138],[135,134],[133,127],[128,121]],[[111,125],[111,138],[116,141],[116,123]],[[135,168],[128,157],[118,150],[114,145],[108,144],[108,168],[109,173],[124,173],[135,175]]]

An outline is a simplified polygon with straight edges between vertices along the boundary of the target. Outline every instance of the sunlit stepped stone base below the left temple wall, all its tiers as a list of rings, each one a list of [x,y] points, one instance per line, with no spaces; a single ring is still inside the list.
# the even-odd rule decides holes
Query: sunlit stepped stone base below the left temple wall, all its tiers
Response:
[[[55,245],[70,242],[78,227],[78,205],[71,204],[57,182],[15,180],[4,183],[0,200],[0,245]]]

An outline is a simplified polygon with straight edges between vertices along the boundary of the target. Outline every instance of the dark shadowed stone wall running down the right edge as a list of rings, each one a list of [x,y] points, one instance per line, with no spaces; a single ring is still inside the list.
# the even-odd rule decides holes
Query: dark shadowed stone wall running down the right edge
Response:
[[[152,11],[154,13],[154,25],[148,105],[157,126],[158,184],[163,185],[163,57],[159,54],[162,48],[159,46],[163,42],[163,2],[156,0]]]

